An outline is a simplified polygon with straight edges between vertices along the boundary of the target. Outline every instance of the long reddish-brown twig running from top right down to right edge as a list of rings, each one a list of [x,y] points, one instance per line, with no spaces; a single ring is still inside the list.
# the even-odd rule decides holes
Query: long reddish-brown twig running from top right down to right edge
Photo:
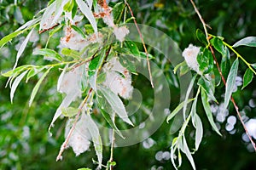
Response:
[[[198,9],[196,8],[195,3],[193,2],[193,0],[190,0],[190,2],[192,3],[193,7],[195,8],[195,13],[198,15],[199,19],[201,20],[201,23],[202,23],[202,25],[203,25],[203,27],[204,27],[205,34],[206,34],[206,37],[207,37],[207,42],[208,42],[209,48],[210,48],[210,50],[211,50],[211,53],[212,53],[213,59],[214,59],[214,61],[215,61],[215,63],[216,63],[216,66],[217,66],[217,68],[218,68],[219,75],[220,75],[222,81],[224,82],[225,87],[227,87],[226,80],[225,80],[225,78],[224,78],[224,76],[223,76],[223,74],[222,74],[222,71],[221,71],[221,69],[220,69],[220,67],[219,67],[219,65],[218,65],[218,60],[217,60],[217,58],[216,58],[216,56],[215,56],[215,54],[214,54],[214,50],[213,50],[213,48],[212,48],[212,46],[211,46],[211,44],[210,44],[210,38],[209,38],[208,32],[207,32],[207,25],[206,25],[205,21],[202,19],[201,14],[200,14],[200,12],[198,11]],[[230,97],[230,100],[231,100],[231,102],[233,103],[233,105],[234,105],[234,107],[235,107],[235,109],[236,109],[236,114],[237,114],[237,116],[239,117],[239,120],[240,120],[240,122],[241,122],[241,124],[242,124],[242,126],[243,126],[243,128],[244,128],[244,130],[245,130],[245,132],[247,133],[247,136],[248,136],[248,138],[250,139],[251,144],[253,144],[253,149],[256,151],[256,145],[255,145],[255,143],[253,142],[253,139],[252,139],[251,135],[248,133],[247,127],[246,127],[245,123],[243,122],[243,120],[242,120],[242,118],[241,118],[241,113],[240,113],[240,111],[239,111],[239,107],[236,105],[236,101],[235,101],[235,99],[232,97],[232,95],[231,95],[231,97]]]

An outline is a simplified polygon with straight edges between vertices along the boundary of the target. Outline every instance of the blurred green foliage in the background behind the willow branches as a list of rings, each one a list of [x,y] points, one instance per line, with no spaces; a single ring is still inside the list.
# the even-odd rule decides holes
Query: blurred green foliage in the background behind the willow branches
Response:
[[[47,5],[48,1],[0,1],[0,38],[15,31],[24,21],[31,20],[34,14]],[[200,20],[195,14],[194,8],[188,0],[139,0],[131,1],[131,8],[136,15],[137,22],[164,31],[175,40],[180,48],[186,48],[189,43],[199,45],[196,40],[195,31],[202,28]],[[204,20],[212,27],[209,33],[217,34],[225,38],[226,42],[232,44],[242,37],[255,36],[256,25],[253,17],[256,16],[256,2],[249,0],[220,1],[201,0],[195,1]],[[21,14],[21,15],[20,15]],[[129,15],[129,14],[128,14]],[[17,53],[15,46],[25,35],[20,35],[11,43],[0,49],[0,71],[8,71],[15,64]],[[49,46],[58,45],[58,38],[54,37]],[[32,49],[37,46],[44,47],[45,34],[40,36],[38,44],[29,42],[25,53],[20,59],[19,65],[28,63],[44,63],[44,59],[32,56]],[[238,51],[249,62],[255,62],[255,49],[238,48]],[[157,62],[161,65],[161,55],[155,53]],[[217,56],[219,57],[219,56]],[[172,67],[165,66],[166,77],[172,77]],[[243,69],[244,68],[244,69]],[[241,65],[240,74],[246,71],[246,66]],[[53,128],[53,137],[49,137],[48,127],[54,116],[55,109],[61,103],[61,95],[57,94],[55,85],[56,77],[60,71],[53,71],[44,80],[38,96],[28,107],[28,99],[32,88],[37,80],[26,83],[20,82],[15,94],[14,104],[9,101],[9,88],[4,88],[7,79],[0,77],[0,169],[77,169],[79,167],[96,167],[91,158],[96,155],[91,149],[81,156],[75,157],[73,151],[68,149],[64,152],[64,159],[56,162],[61,143],[63,142],[64,120],[58,120]],[[177,88],[172,84],[170,78],[172,96],[178,96]],[[145,87],[143,81],[136,79],[134,84],[137,88]],[[150,88],[150,85],[147,86]],[[256,101],[256,82],[251,83],[244,91],[241,87],[234,95],[241,111],[248,117],[255,116],[256,108],[248,105],[249,100]],[[145,90],[145,89],[144,89]],[[147,89],[145,90],[147,91]],[[145,92],[146,93],[146,92]],[[217,91],[218,96],[223,91]],[[146,103],[150,103],[145,101]],[[179,101],[172,97],[171,110]],[[202,111],[202,109],[199,109]],[[202,122],[207,122],[203,112]],[[236,112],[230,107],[230,115]],[[235,115],[236,116],[236,115]],[[219,122],[223,137],[214,133],[209,123],[204,123],[205,135],[198,152],[195,153],[195,164],[198,169],[253,169],[255,168],[255,153],[247,150],[248,143],[241,139],[244,129],[241,123],[236,123],[236,133],[230,134],[225,130],[226,120]],[[193,133],[193,131],[189,132]],[[166,122],[154,135],[143,143],[125,148],[114,149],[114,161],[117,162],[115,169],[173,169],[170,159],[160,159],[165,151],[170,151],[172,143],[170,124]],[[189,142],[193,142],[192,139]],[[152,144],[147,147],[147,144]],[[107,162],[109,148],[105,147],[104,161]],[[189,162],[183,163],[181,169],[190,169]]]

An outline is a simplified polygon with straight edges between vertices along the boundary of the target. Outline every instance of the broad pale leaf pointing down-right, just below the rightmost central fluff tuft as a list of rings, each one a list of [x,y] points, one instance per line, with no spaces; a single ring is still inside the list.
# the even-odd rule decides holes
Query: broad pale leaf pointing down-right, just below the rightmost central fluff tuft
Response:
[[[105,99],[108,100],[108,104],[111,105],[113,111],[125,122],[133,126],[131,120],[128,117],[127,112],[125,111],[125,106],[117,94],[113,94],[108,88],[98,86],[98,90],[104,95]]]

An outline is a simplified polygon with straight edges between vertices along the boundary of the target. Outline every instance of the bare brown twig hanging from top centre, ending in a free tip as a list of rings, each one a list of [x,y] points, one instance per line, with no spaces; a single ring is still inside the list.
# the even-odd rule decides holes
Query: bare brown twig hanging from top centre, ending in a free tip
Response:
[[[134,14],[133,14],[133,12],[132,12],[132,10],[131,10],[131,7],[130,7],[129,3],[127,3],[126,0],[125,0],[125,4],[127,5],[127,7],[128,7],[129,10],[130,10],[130,13],[131,13],[131,16],[132,16],[132,18],[133,18],[134,24],[135,24],[135,26],[136,26],[136,28],[137,28],[137,31],[138,31],[138,33],[139,33],[139,35],[140,35],[140,38],[141,38],[142,42],[143,42],[143,48],[144,48],[144,51],[145,51],[145,53],[146,53],[146,55],[147,55],[148,74],[149,74],[151,86],[152,86],[152,88],[154,88],[153,78],[152,78],[151,68],[150,68],[150,63],[149,63],[149,57],[148,57],[148,50],[147,50],[147,48],[146,48],[146,45],[145,45],[145,42],[144,42],[144,39],[143,39],[143,34],[142,34],[142,32],[140,31],[139,27],[137,26],[136,18],[134,17]]]

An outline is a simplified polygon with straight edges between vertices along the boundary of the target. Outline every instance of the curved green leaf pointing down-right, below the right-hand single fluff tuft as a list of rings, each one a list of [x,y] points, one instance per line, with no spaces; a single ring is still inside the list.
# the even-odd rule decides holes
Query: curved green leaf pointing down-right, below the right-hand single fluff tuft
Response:
[[[208,103],[208,97],[207,97],[205,90],[201,90],[201,101],[202,101],[204,109],[207,113],[208,121],[210,122],[212,128],[221,136],[221,133],[219,133],[219,131],[218,131],[218,127],[216,126],[215,122],[213,121],[211,106]]]

